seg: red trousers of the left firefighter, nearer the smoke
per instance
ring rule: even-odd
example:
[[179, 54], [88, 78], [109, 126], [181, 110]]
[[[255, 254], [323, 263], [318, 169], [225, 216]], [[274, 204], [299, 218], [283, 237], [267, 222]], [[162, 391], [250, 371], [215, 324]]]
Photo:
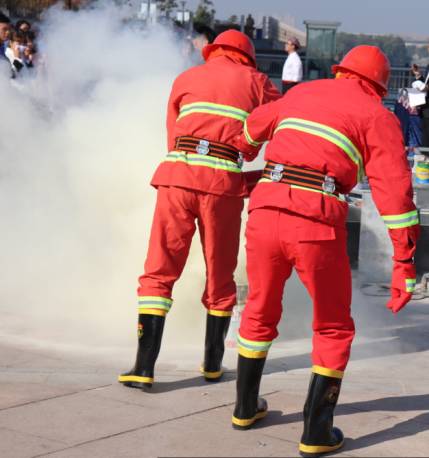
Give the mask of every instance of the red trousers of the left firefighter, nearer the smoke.
[[140, 313], [165, 315], [170, 309], [172, 289], [185, 267], [197, 222], [206, 263], [202, 302], [213, 315], [231, 315], [242, 210], [241, 197], [158, 188], [145, 273], [139, 278]]

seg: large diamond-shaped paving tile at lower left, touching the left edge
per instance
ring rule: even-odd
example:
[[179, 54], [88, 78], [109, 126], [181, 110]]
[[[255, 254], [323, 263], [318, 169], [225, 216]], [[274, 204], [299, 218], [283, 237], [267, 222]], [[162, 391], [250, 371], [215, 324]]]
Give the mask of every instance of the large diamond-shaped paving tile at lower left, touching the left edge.
[[92, 391], [28, 404], [0, 412], [0, 428], [14, 425], [33, 434], [69, 445], [93, 440], [161, 421], [160, 410], [95, 396]]

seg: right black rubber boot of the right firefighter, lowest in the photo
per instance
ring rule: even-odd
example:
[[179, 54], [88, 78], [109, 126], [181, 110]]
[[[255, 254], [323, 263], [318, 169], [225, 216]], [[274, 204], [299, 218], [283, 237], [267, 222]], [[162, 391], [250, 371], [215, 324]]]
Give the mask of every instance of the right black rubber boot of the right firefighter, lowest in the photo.
[[343, 446], [343, 433], [333, 426], [340, 388], [341, 379], [313, 373], [304, 406], [304, 433], [299, 444], [301, 456], [320, 456]]

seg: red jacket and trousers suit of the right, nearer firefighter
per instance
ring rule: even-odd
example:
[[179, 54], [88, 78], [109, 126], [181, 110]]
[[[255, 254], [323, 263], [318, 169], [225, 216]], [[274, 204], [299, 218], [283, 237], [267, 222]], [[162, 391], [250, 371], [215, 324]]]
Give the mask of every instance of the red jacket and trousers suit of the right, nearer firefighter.
[[[414, 256], [418, 215], [399, 123], [370, 83], [336, 79], [297, 86], [256, 109], [235, 144], [252, 159], [266, 140], [271, 140], [267, 161], [334, 177], [344, 194], [366, 173], [389, 229], [394, 260], [408, 262]], [[314, 371], [342, 376], [354, 336], [347, 203], [329, 190], [263, 178], [249, 211], [250, 291], [239, 331], [240, 353], [266, 356], [277, 336], [284, 284], [295, 267], [314, 303]], [[410, 269], [401, 272], [410, 275]], [[413, 281], [396, 280], [395, 287], [409, 294]]]

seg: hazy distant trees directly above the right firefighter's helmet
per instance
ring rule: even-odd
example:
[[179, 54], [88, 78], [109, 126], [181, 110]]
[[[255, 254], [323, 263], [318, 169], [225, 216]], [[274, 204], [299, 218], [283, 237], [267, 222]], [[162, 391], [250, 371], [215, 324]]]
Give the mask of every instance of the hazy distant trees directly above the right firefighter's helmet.
[[381, 48], [393, 66], [403, 67], [410, 63], [405, 42], [396, 35], [355, 35], [341, 32], [337, 35], [338, 58], [341, 59], [350, 49], [363, 44]]

